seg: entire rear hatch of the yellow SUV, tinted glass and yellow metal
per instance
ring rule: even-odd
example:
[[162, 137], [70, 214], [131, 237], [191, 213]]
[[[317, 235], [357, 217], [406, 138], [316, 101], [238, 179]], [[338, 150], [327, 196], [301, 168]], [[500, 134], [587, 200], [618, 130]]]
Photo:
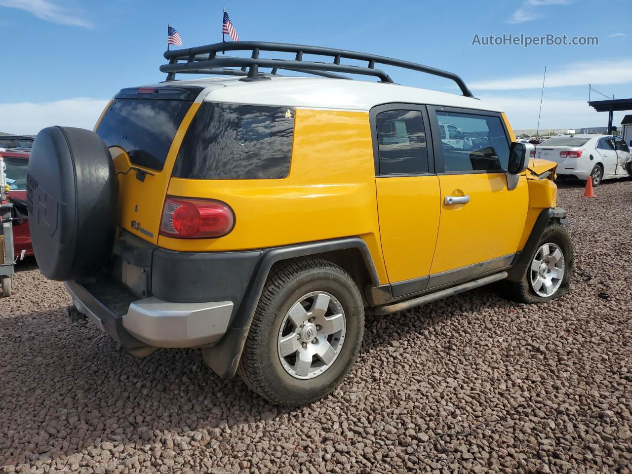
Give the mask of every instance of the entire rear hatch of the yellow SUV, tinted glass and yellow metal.
[[114, 159], [119, 226], [154, 245], [173, 164], [202, 90], [173, 86], [122, 89], [95, 130]]

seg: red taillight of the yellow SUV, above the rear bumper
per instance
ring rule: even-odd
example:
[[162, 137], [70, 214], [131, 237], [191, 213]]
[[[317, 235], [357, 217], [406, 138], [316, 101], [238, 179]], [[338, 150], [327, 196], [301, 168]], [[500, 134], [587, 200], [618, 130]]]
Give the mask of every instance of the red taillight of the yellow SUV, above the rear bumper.
[[223, 202], [167, 196], [160, 234], [183, 239], [221, 237], [233, 230], [234, 222], [233, 210]]

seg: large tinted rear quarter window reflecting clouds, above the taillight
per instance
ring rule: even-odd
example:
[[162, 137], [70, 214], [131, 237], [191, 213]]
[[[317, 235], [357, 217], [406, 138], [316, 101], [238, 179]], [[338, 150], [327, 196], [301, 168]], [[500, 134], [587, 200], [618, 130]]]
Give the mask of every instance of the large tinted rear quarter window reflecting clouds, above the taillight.
[[285, 178], [293, 135], [292, 108], [205, 102], [186, 131], [173, 176]]

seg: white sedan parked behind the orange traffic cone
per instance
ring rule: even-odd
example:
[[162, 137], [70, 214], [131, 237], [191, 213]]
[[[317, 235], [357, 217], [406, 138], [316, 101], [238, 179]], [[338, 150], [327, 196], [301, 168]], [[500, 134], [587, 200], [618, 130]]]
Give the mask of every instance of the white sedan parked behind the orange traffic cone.
[[612, 135], [553, 137], [535, 147], [535, 157], [557, 162], [557, 176], [586, 181], [632, 176], [632, 154], [623, 138]]

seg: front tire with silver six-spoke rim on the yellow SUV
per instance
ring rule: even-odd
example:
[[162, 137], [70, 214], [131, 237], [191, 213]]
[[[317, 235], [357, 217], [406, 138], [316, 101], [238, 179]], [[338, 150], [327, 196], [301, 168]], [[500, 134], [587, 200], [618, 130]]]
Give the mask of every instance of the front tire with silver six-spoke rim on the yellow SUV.
[[[552, 293], [550, 294], [547, 294], [548, 292], [546, 291], [546, 287], [544, 285], [540, 288], [534, 288], [533, 272], [535, 270], [532, 269], [534, 260], [538, 260], [539, 258], [540, 261], [545, 261], [543, 258], [541, 258], [542, 253], [540, 253], [540, 249], [542, 249], [542, 247], [547, 244], [550, 244], [550, 250], [555, 246], [561, 251], [564, 265], [564, 272], [561, 275], [561, 278], [552, 278], [552, 290], [554, 291], [552, 291]], [[529, 305], [535, 303], [544, 303], [545, 301], [561, 298], [568, 292], [571, 277], [573, 276], [573, 258], [573, 244], [571, 243], [571, 239], [566, 232], [566, 229], [564, 229], [559, 224], [550, 224], [545, 229], [544, 234], [542, 234], [542, 238], [540, 239], [540, 242], [538, 243], [538, 246], [533, 253], [532, 258], [530, 259], [530, 265], [527, 268], [522, 279], [518, 282], [513, 282], [509, 280], [505, 280], [503, 282], [505, 295], [507, 296], [507, 298], [516, 301], [517, 303], [526, 303]], [[554, 270], [557, 270], [557, 267], [559, 267], [559, 263], [556, 263], [556, 269]], [[550, 268], [548, 270], [550, 270]], [[552, 275], [552, 273], [549, 272], [547, 274], [547, 277], [550, 275]], [[535, 279], [537, 279], [537, 277]], [[559, 284], [557, 284], [557, 281], [559, 281]]]

